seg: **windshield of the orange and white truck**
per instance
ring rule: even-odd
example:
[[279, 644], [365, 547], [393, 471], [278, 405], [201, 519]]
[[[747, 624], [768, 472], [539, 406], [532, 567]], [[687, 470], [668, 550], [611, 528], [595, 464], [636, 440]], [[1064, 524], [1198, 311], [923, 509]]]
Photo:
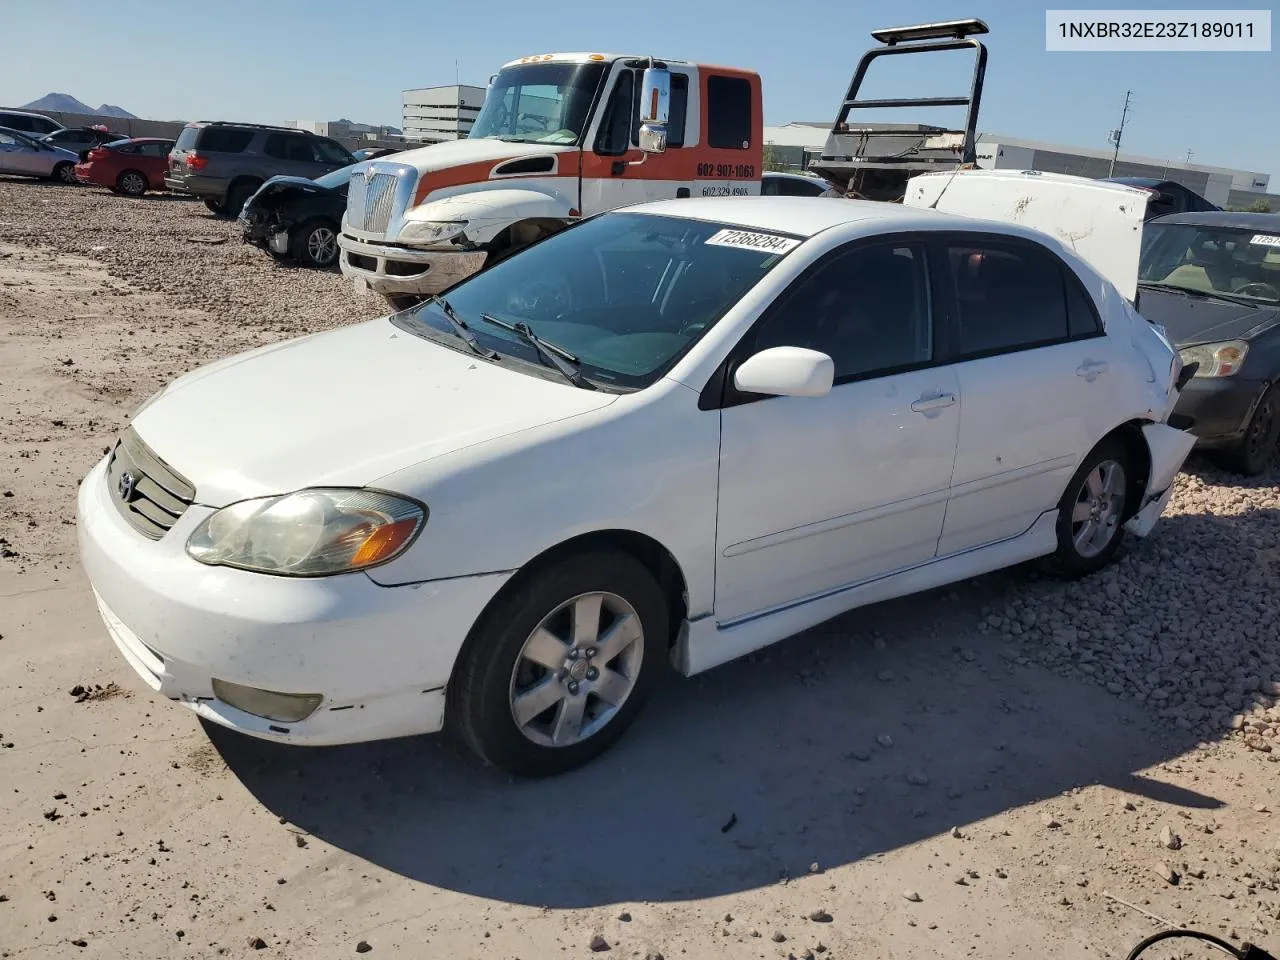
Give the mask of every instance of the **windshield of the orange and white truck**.
[[508, 67], [490, 84], [468, 136], [524, 143], [577, 143], [605, 69], [603, 63]]

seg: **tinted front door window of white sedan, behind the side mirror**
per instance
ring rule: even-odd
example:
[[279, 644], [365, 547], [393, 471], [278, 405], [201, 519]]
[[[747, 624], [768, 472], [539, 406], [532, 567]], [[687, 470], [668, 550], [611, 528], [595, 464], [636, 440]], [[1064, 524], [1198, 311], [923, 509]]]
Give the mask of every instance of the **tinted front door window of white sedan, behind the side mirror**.
[[785, 297], [756, 332], [755, 349], [820, 351], [835, 361], [837, 381], [933, 360], [923, 246], [886, 243], [838, 255]]

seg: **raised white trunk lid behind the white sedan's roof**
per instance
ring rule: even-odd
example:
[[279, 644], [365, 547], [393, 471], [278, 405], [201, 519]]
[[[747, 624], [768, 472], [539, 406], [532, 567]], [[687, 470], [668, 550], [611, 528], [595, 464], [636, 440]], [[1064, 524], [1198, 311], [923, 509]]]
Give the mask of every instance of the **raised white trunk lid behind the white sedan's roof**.
[[957, 170], [911, 178], [902, 205], [1047, 233], [1132, 302], [1138, 292], [1138, 256], [1149, 198], [1151, 193], [1137, 187], [1062, 173]]

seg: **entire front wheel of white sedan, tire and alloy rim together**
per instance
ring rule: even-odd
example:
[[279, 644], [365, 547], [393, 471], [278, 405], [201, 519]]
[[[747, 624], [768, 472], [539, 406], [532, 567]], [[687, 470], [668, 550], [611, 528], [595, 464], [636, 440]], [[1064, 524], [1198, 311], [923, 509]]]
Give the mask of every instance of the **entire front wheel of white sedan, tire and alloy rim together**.
[[611, 550], [553, 561], [476, 622], [449, 684], [448, 722], [508, 773], [580, 767], [635, 719], [668, 632], [666, 596], [639, 561]]

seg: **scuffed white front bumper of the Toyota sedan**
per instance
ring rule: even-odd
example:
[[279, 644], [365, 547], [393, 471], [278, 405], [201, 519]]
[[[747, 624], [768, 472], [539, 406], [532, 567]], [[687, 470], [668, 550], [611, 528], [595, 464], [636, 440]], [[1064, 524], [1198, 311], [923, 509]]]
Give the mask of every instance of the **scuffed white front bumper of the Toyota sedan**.
[[[224, 727], [291, 744], [348, 744], [430, 733], [472, 623], [507, 580], [497, 573], [387, 588], [364, 573], [273, 577], [206, 567], [186, 554], [212, 509], [193, 506], [160, 540], [120, 516], [106, 461], [81, 484], [81, 559], [125, 660], [163, 696]], [[321, 694], [306, 719], [244, 713], [212, 680]]]

